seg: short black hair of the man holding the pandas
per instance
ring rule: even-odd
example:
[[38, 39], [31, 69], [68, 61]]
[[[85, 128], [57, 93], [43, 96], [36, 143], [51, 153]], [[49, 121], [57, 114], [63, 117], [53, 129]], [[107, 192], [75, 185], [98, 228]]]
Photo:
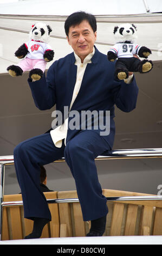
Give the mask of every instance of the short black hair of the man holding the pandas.
[[68, 36], [69, 34], [69, 27], [79, 25], [83, 20], [88, 21], [89, 25], [93, 29], [93, 32], [96, 32], [97, 25], [95, 16], [89, 13], [85, 13], [85, 11], [77, 11], [76, 13], [68, 16], [64, 23], [64, 30], [66, 35]]

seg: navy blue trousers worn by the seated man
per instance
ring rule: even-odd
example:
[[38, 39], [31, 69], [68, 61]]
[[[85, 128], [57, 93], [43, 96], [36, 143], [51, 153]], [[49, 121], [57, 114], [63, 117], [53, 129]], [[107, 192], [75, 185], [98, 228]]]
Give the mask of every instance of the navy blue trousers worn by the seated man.
[[21, 188], [24, 217], [51, 220], [46, 197], [40, 189], [40, 166], [64, 157], [75, 179], [83, 220], [95, 220], [107, 215], [107, 199], [102, 195], [95, 166], [95, 157], [109, 145], [95, 131], [80, 131], [64, 146], [56, 148], [50, 133], [21, 142], [14, 149], [14, 161]]

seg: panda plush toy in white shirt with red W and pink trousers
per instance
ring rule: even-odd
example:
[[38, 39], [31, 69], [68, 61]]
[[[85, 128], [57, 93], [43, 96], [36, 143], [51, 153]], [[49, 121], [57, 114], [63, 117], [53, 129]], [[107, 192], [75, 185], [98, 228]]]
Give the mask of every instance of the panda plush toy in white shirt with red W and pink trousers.
[[48, 45], [51, 31], [50, 26], [42, 22], [32, 26], [29, 32], [30, 40], [21, 45], [15, 52], [17, 58], [23, 59], [17, 65], [11, 65], [7, 68], [11, 76], [21, 76], [24, 71], [30, 70], [29, 77], [31, 80], [40, 80], [47, 62], [54, 58], [54, 51]]

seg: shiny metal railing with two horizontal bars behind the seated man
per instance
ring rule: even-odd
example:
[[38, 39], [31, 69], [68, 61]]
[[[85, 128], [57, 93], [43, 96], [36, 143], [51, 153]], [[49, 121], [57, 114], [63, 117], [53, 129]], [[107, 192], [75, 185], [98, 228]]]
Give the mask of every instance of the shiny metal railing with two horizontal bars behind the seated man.
[[[162, 148], [155, 149], [118, 149], [109, 152], [108, 154], [96, 157], [95, 160], [118, 160], [118, 159], [151, 159], [162, 158]], [[62, 159], [55, 162], [64, 162]], [[55, 163], [54, 162], [54, 163]], [[14, 165], [14, 156], [0, 156], [0, 240], [2, 234], [2, 211], [4, 206], [23, 205], [22, 201], [3, 202], [4, 197], [4, 175], [5, 166]], [[129, 201], [129, 200], [162, 200], [162, 196], [133, 196], [133, 197], [107, 197], [107, 201]], [[78, 198], [63, 198], [63, 199], [47, 199], [48, 203], [74, 203], [79, 202]]]

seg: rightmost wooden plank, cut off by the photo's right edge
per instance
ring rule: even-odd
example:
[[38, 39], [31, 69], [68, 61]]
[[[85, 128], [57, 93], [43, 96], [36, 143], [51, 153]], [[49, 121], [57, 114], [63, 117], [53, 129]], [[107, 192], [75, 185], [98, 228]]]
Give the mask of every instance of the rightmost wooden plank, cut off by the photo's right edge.
[[155, 209], [153, 235], [162, 235], [162, 209]]

